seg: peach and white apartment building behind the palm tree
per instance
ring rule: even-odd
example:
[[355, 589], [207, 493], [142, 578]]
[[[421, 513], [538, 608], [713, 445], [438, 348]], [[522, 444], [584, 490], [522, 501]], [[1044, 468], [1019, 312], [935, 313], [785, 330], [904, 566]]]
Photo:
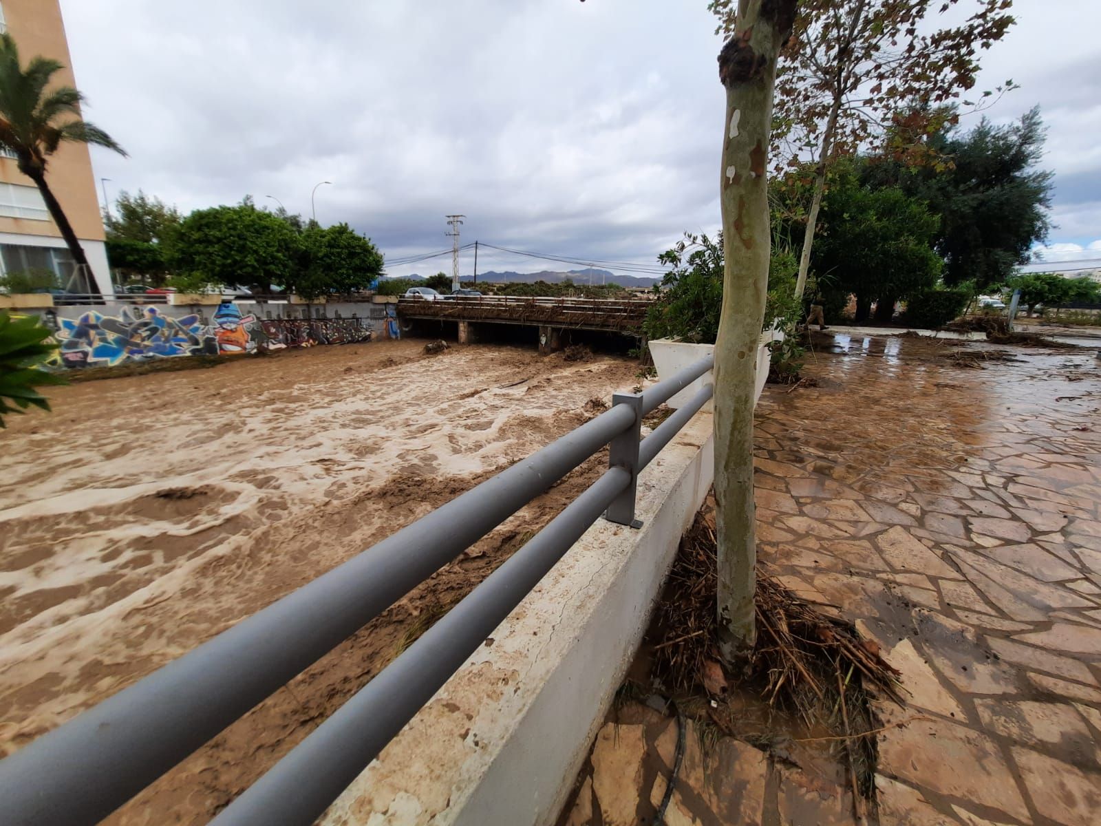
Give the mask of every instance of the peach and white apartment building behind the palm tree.
[[[54, 75], [55, 83], [80, 88], [73, 75], [59, 0], [0, 0], [0, 28], [15, 39], [24, 64], [35, 55], [53, 57], [64, 65]], [[88, 148], [63, 143], [50, 157], [46, 180], [80, 239], [100, 292], [112, 292]], [[65, 285], [75, 262], [37, 187], [0, 150], [0, 271], [32, 268], [52, 270]]]

